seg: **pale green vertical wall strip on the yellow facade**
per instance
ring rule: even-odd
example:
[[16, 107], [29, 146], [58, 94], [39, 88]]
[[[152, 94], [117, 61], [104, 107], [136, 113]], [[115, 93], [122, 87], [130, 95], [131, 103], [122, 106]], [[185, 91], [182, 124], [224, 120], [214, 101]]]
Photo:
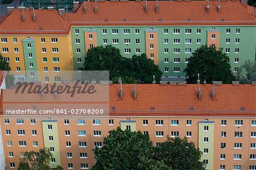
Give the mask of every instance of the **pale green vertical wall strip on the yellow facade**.
[[[31, 48], [28, 48], [28, 43], [31, 44]], [[36, 63], [35, 39], [22, 39], [22, 44], [27, 81], [38, 81], [38, 64]], [[28, 57], [28, 53], [32, 53], [32, 57]], [[30, 63], [33, 63], [33, 68], [30, 68]], [[34, 77], [31, 77], [31, 72], [34, 73]]]

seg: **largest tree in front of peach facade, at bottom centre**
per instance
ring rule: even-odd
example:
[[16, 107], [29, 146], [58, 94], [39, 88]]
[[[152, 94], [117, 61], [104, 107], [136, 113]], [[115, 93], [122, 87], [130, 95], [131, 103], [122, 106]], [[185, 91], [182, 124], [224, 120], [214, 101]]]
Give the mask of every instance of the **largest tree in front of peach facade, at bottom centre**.
[[162, 161], [153, 159], [154, 146], [141, 131], [110, 131], [104, 146], [94, 151], [97, 163], [92, 169], [170, 169]]

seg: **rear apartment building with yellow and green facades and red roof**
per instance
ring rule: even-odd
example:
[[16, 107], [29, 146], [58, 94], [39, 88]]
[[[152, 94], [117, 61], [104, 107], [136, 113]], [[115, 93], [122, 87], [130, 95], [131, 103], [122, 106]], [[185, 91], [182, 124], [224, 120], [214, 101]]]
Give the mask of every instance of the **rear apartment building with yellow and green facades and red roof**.
[[164, 77], [184, 77], [188, 58], [204, 44], [223, 48], [233, 72], [255, 60], [255, 8], [243, 1], [83, 2], [73, 13], [9, 9], [0, 23], [1, 53], [17, 74], [31, 67], [80, 72], [98, 45], [125, 57], [146, 53]]

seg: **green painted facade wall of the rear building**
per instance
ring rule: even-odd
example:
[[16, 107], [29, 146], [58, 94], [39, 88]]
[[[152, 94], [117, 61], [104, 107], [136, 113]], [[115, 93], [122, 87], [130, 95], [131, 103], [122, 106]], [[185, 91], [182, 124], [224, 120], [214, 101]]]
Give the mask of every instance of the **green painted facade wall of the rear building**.
[[[239, 67], [245, 60], [255, 60], [255, 47], [256, 47], [256, 27], [255, 26], [187, 26], [187, 27], [72, 27], [72, 45], [73, 45], [73, 59], [74, 59], [74, 69], [81, 67], [81, 64], [77, 64], [76, 58], [85, 56], [85, 43], [84, 43], [84, 30], [92, 28], [97, 31], [97, 44], [103, 44], [103, 39], [108, 39], [108, 45], [113, 45], [121, 51], [121, 55], [125, 57], [131, 57], [135, 55], [135, 48], [141, 49], [141, 54], [146, 51], [145, 43], [145, 30], [154, 28], [158, 30], [158, 49], [159, 49], [159, 68], [164, 72], [164, 68], [168, 67], [169, 72], [163, 73], [163, 76], [185, 76], [183, 73], [184, 68], [187, 66], [185, 63], [185, 58], [192, 56], [192, 54], [185, 53], [185, 48], [191, 48], [192, 52], [199, 48], [201, 45], [207, 44], [207, 30], [215, 28], [220, 30], [220, 47], [230, 48], [230, 65], [232, 67], [232, 72], [234, 72], [235, 67]], [[118, 29], [118, 34], [112, 34], [112, 29]], [[130, 29], [130, 34], [123, 34], [123, 29]], [[135, 29], [139, 28], [139, 34], [135, 34]], [[173, 30], [177, 28], [180, 29], [180, 34], [173, 34]], [[191, 34], [184, 34], [186, 28], [191, 28]], [[196, 29], [201, 29], [201, 34], [196, 34]], [[230, 28], [230, 34], [226, 34], [226, 28]], [[236, 28], [240, 28], [240, 34], [236, 34]], [[80, 30], [79, 35], [75, 35], [75, 29]], [[102, 30], [106, 29], [107, 34], [103, 34]], [[164, 29], [168, 29], [168, 34], [164, 34]], [[75, 39], [80, 39], [80, 44], [75, 44]], [[131, 43], [125, 44], [123, 39], [130, 38]], [[140, 39], [140, 44], [135, 44], [135, 39]], [[226, 38], [230, 38], [230, 44], [226, 44]], [[235, 39], [240, 38], [240, 44], [235, 44]], [[119, 44], [112, 44], [112, 39], [119, 39]], [[164, 44], [164, 39], [168, 39], [168, 44]], [[174, 39], [180, 39], [180, 44], [174, 44]], [[185, 44], [185, 39], [191, 39], [191, 44]], [[201, 39], [201, 44], [196, 43], [196, 39]], [[76, 48], [81, 48], [81, 53], [76, 54]], [[130, 54], [125, 54], [124, 49], [131, 48]], [[164, 48], [169, 48], [169, 53], [164, 53]], [[180, 48], [180, 53], [174, 53], [174, 48]], [[235, 48], [240, 48], [240, 53], [234, 53]], [[136, 54], [138, 55], [138, 54]], [[168, 57], [169, 63], [164, 63], [164, 58]], [[234, 59], [239, 57], [239, 63], [234, 63]], [[174, 63], [174, 58], [180, 58], [180, 63]], [[179, 67], [180, 72], [174, 73], [174, 67]]]

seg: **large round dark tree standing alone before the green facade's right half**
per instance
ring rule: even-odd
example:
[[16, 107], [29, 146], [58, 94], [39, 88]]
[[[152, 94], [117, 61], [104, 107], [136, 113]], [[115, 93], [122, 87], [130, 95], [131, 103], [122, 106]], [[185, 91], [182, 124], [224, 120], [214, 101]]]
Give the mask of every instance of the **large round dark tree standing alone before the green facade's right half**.
[[222, 52], [222, 49], [217, 50], [215, 47], [202, 45], [192, 53], [184, 72], [189, 77], [189, 83], [196, 83], [197, 73], [199, 73], [201, 80], [222, 81], [224, 84], [230, 84], [234, 76], [228, 61], [229, 57]]

